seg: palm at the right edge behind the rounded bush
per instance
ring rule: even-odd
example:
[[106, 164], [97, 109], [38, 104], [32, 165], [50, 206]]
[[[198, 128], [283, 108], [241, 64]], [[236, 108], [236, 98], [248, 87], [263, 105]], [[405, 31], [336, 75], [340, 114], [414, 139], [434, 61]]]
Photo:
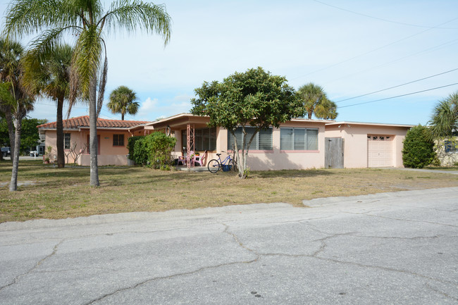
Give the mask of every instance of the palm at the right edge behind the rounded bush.
[[458, 91], [435, 105], [428, 125], [433, 138], [451, 138], [458, 131]]

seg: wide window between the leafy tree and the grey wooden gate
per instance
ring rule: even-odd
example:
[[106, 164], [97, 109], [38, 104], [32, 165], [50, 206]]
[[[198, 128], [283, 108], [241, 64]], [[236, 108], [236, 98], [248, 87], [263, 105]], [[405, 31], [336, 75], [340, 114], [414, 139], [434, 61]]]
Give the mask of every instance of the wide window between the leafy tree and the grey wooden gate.
[[280, 128], [281, 150], [318, 150], [318, 130]]

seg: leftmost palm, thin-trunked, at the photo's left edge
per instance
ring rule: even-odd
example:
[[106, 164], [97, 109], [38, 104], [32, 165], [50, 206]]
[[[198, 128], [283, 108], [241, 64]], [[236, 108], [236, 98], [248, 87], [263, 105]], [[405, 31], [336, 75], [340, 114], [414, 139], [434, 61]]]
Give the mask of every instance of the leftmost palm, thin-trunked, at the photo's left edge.
[[[11, 170], [10, 192], [18, 190], [18, 168], [20, 152], [20, 132], [22, 130], [23, 118], [28, 111], [33, 109], [35, 94], [29, 94], [22, 84], [24, 49], [18, 42], [2, 41], [0, 43], [2, 54], [9, 54], [1, 61], [1, 83], [0, 100], [1, 104], [8, 108], [8, 113], [13, 118], [14, 125], [14, 146], [11, 147], [11, 158], [13, 168]], [[4, 108], [4, 107], [2, 107]], [[8, 127], [9, 129], [9, 127]], [[11, 142], [10, 132], [10, 142]]]

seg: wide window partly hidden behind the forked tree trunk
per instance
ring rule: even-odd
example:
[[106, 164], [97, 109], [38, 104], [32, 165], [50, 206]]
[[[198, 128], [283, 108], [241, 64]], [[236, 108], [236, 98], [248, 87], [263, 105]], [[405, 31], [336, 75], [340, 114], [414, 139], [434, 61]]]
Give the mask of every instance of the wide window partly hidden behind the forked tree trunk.
[[[254, 134], [255, 127], [245, 127], [247, 131], [247, 144], [249, 139], [252, 138]], [[242, 149], [243, 143], [243, 132], [242, 127], [237, 127], [235, 130], [235, 137], [237, 137], [237, 145], [239, 149]], [[228, 131], [228, 149], [233, 149], [233, 145], [235, 145], [233, 135]], [[252, 144], [249, 146], [249, 149], [252, 150], [272, 150], [272, 127], [268, 128], [268, 130], [259, 130], [256, 133], [256, 136], [253, 139]]]

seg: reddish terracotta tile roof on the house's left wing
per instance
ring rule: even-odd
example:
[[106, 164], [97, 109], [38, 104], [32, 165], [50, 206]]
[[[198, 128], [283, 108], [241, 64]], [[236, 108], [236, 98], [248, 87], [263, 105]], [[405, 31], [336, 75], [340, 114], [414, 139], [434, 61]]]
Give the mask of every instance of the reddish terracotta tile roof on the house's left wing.
[[[97, 118], [97, 127], [101, 128], [130, 128], [149, 123], [143, 120], [107, 120], [105, 118]], [[69, 118], [63, 120], [64, 129], [78, 129], [81, 127], [89, 127], [89, 116], [78, 116], [77, 118]], [[56, 129], [56, 122], [44, 123], [38, 125], [37, 128]]]

